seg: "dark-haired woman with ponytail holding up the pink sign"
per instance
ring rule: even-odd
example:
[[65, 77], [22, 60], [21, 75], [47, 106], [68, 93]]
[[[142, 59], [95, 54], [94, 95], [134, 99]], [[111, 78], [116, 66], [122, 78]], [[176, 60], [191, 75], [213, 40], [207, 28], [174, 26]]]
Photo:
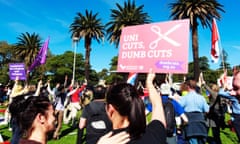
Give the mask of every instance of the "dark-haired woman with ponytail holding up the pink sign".
[[151, 122], [146, 125], [145, 107], [134, 86], [120, 83], [109, 88], [106, 111], [113, 124], [113, 133], [126, 131], [130, 143], [166, 143], [166, 121], [161, 97], [153, 85], [155, 73], [148, 73], [146, 86], [153, 105]]

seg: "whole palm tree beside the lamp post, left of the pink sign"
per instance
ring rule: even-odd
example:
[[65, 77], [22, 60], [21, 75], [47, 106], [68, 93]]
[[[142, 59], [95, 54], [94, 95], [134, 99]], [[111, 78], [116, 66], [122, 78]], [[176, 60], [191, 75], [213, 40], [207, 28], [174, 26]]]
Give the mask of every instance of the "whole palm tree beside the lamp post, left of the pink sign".
[[90, 69], [90, 52], [92, 40], [98, 43], [104, 38], [104, 25], [101, 19], [97, 18], [98, 13], [93, 14], [92, 11], [86, 10], [85, 15], [77, 13], [73, 23], [70, 25], [72, 38], [78, 37], [84, 39], [85, 46], [85, 77], [89, 80]]

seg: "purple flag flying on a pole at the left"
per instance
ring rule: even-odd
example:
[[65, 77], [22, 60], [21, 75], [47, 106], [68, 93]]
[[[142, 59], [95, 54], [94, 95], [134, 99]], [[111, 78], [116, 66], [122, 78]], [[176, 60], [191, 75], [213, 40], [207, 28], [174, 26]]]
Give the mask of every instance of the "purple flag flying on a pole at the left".
[[40, 51], [38, 52], [38, 55], [36, 56], [36, 58], [34, 60], [34, 62], [28, 68], [28, 72], [31, 72], [35, 67], [46, 63], [49, 39], [50, 38], [48, 37], [48, 39], [45, 41], [45, 43], [41, 47]]

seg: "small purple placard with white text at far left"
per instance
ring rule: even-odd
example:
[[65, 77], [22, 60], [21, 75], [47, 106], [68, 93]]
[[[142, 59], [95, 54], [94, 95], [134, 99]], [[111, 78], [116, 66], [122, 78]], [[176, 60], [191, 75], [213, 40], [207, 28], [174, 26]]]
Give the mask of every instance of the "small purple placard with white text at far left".
[[18, 77], [19, 80], [26, 80], [26, 71], [24, 63], [10, 63], [9, 64], [9, 76], [11, 80], [15, 80]]

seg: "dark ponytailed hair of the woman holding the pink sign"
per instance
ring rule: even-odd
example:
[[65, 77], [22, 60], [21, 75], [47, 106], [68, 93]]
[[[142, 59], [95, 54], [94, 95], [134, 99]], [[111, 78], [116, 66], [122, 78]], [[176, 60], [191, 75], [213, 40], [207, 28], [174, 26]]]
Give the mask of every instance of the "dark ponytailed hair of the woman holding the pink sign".
[[109, 88], [106, 100], [120, 115], [128, 117], [131, 137], [140, 137], [146, 128], [146, 117], [144, 103], [137, 89], [127, 83], [114, 85]]

